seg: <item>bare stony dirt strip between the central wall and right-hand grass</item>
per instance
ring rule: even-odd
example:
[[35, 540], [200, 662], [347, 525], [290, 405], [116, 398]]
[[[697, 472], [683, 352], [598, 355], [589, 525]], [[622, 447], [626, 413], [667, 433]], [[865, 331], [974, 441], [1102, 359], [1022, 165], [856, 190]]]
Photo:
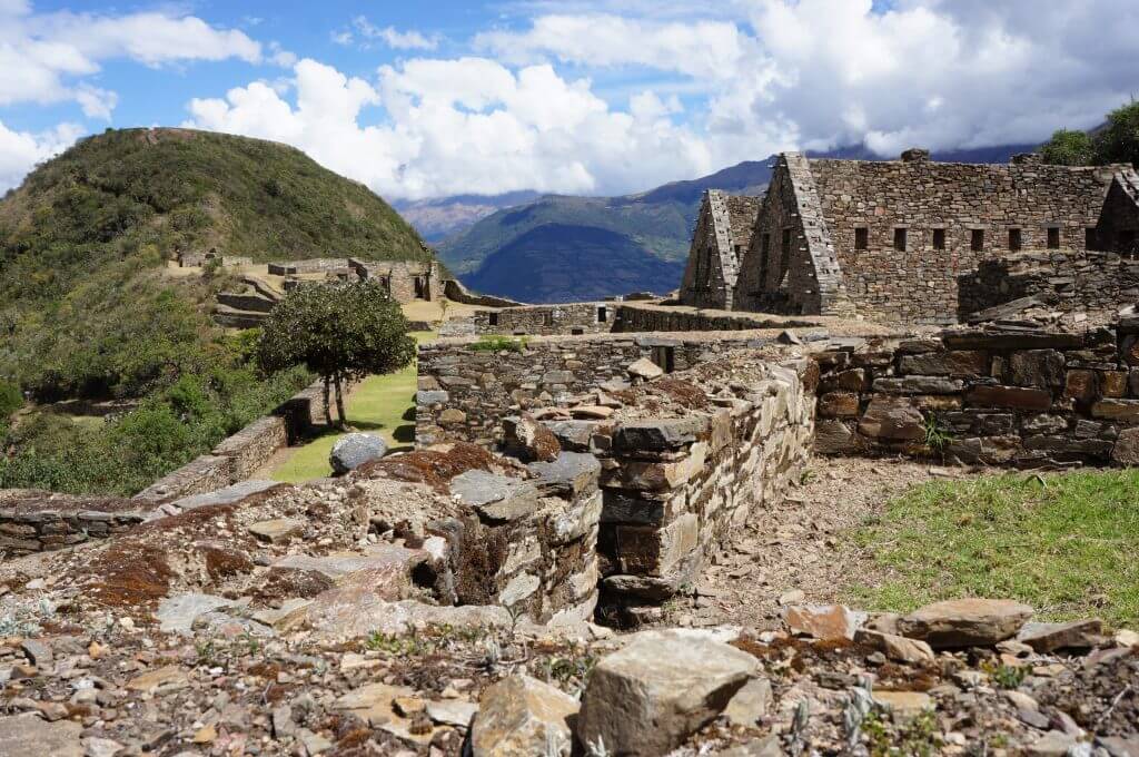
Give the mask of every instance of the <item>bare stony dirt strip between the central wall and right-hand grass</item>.
[[804, 483], [780, 504], [756, 513], [747, 530], [718, 555], [691, 599], [674, 600], [665, 622], [685, 626], [780, 627], [780, 597], [794, 604], [838, 602], [853, 580], [874, 580], [871, 565], [846, 532], [911, 486], [965, 479], [980, 471], [890, 458], [811, 461]]

